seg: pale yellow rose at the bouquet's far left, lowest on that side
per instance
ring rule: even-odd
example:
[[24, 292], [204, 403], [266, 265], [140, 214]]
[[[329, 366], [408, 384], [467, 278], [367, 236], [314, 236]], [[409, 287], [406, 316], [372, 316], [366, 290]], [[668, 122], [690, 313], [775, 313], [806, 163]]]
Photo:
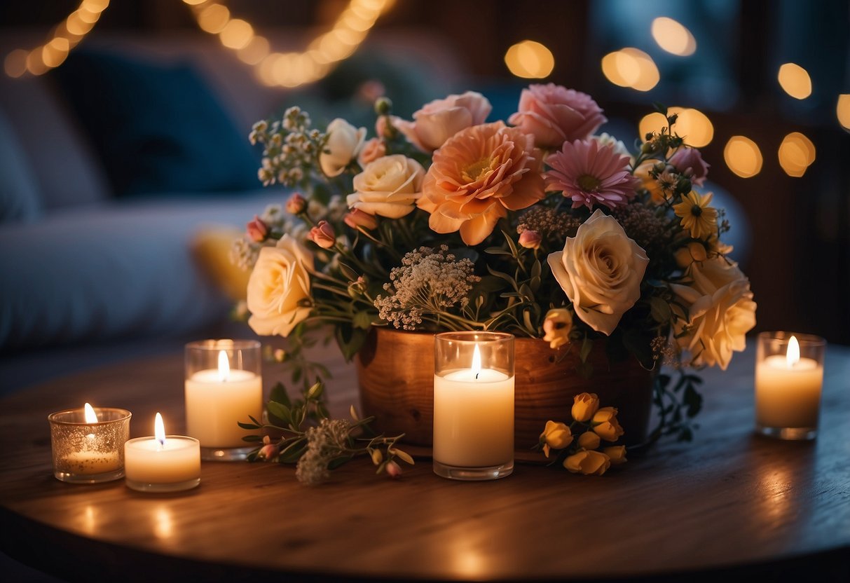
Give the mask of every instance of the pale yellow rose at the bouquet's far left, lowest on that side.
[[283, 235], [277, 246], [263, 247], [248, 279], [248, 325], [260, 336], [286, 337], [310, 308], [301, 305], [310, 298], [309, 272], [313, 255], [291, 235]]

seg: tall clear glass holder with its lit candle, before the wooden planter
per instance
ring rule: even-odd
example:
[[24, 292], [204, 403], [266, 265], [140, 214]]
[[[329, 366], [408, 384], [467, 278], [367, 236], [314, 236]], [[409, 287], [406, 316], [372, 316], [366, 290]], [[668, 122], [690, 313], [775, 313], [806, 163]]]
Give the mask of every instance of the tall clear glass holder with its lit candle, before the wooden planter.
[[513, 473], [513, 335], [434, 337], [433, 471], [486, 480]]

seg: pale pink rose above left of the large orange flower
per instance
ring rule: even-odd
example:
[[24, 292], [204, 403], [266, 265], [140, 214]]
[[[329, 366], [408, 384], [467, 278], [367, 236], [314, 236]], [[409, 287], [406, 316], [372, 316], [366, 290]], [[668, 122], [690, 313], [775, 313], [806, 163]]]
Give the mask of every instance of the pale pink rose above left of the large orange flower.
[[423, 105], [413, 114], [413, 122], [395, 116], [392, 122], [411, 144], [423, 152], [432, 152], [462, 129], [484, 123], [492, 109], [484, 95], [467, 91]]

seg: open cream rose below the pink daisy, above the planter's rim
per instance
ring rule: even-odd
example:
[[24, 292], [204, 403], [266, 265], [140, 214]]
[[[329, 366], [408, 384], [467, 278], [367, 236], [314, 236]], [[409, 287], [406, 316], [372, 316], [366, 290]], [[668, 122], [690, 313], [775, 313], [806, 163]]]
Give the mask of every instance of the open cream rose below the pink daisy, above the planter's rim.
[[550, 254], [548, 261], [575, 315], [593, 330], [610, 335], [638, 301], [649, 258], [615, 218], [597, 210], [575, 238], [567, 237], [564, 251]]

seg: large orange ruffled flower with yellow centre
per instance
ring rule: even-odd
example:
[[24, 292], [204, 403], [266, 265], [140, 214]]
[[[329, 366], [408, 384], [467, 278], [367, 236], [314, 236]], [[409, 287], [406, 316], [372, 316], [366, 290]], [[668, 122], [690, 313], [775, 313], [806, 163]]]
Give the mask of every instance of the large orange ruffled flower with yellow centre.
[[460, 231], [467, 245], [487, 238], [507, 211], [540, 201], [545, 192], [534, 137], [502, 122], [467, 127], [433, 154], [418, 207], [437, 233]]

